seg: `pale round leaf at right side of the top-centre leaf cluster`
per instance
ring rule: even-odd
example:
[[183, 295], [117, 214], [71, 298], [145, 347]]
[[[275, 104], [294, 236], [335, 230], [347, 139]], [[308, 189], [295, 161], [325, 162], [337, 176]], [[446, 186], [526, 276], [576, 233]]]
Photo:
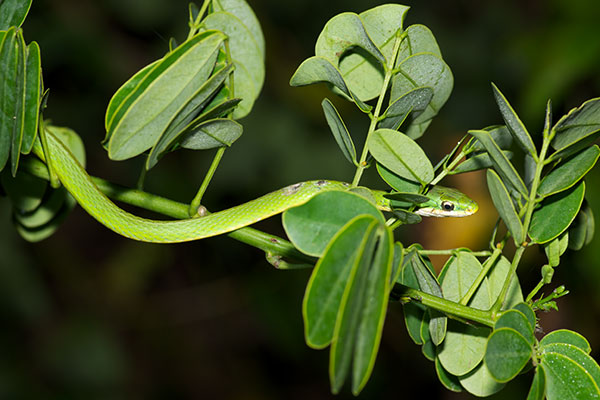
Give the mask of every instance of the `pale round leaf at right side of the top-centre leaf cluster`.
[[431, 120], [452, 92], [454, 78], [448, 65], [436, 54], [418, 53], [402, 61], [396, 68], [398, 73], [392, 78], [390, 104], [415, 88], [430, 87], [433, 89], [431, 102], [412, 122], [421, 124]]

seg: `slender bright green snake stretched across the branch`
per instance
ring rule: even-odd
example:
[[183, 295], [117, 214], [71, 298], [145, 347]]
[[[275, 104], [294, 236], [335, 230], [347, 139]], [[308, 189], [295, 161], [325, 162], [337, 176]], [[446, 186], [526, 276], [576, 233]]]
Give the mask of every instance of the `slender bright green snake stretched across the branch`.
[[[40, 140], [35, 154], [48, 164], [85, 211], [100, 223], [130, 239], [154, 243], [175, 243], [204, 239], [228, 233], [304, 204], [318, 193], [328, 190], [348, 190], [343, 182], [307, 181], [276, 190], [247, 203], [184, 220], [157, 221], [133, 215], [113, 203], [94, 184], [86, 170], [64, 144], [46, 131], [45, 156]], [[390, 211], [390, 202], [383, 191], [371, 190], [379, 209]], [[433, 186], [427, 193], [429, 201], [420, 205], [417, 214], [424, 216], [463, 217], [477, 211], [477, 203], [460, 191]]]

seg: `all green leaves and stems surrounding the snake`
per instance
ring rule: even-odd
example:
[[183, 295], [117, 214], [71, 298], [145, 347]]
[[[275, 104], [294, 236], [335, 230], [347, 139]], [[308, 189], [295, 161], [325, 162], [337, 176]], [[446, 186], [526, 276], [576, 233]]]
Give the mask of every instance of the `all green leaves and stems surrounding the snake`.
[[[58, 228], [75, 201], [60, 187], [52, 158], [45, 152], [36, 158], [32, 148], [47, 148], [46, 135], [52, 134], [82, 165], [85, 152], [74, 131], [43, 118], [47, 92], [39, 47], [27, 45], [19, 28], [30, 5], [0, 4], [0, 182], [17, 231], [38, 241]], [[334, 101], [321, 103], [335, 142], [355, 168], [350, 190], [325, 192], [285, 211], [290, 242], [252, 229], [233, 237], [267, 252], [278, 268], [314, 264], [302, 307], [305, 338], [310, 347], [330, 348], [334, 393], [348, 380], [355, 395], [365, 387], [388, 303], [399, 301], [409, 336], [449, 390], [489, 396], [532, 370], [528, 398], [600, 397], [600, 367], [589, 355], [587, 340], [570, 330], [540, 337], [536, 317], [541, 310], [557, 309], [555, 300], [568, 293], [560, 286], [538, 296], [552, 282], [561, 256], [567, 248], [581, 249], [594, 235], [583, 179], [600, 156], [594, 144], [600, 135], [600, 99], [586, 101], [557, 122], [548, 102], [544, 128], [532, 135], [492, 85], [505, 125], [469, 131], [434, 165], [417, 140], [448, 100], [453, 76], [429, 28], [404, 28], [407, 12], [408, 7], [386, 4], [331, 18], [317, 38], [315, 55], [290, 79], [292, 86], [325, 83], [336, 102], [347, 101], [368, 118], [358, 156]], [[115, 92], [106, 110], [103, 144], [113, 160], [145, 157], [140, 189], [145, 172], [168, 152], [217, 149], [189, 205], [189, 216], [196, 216], [223, 152], [242, 134], [237, 120], [251, 112], [258, 97], [265, 44], [244, 0], [192, 4], [189, 26], [183, 42], [172, 40], [164, 57]], [[384, 195], [359, 186], [370, 166], [389, 186]], [[482, 169], [499, 215], [489, 248], [447, 249], [443, 253], [449, 259], [437, 274], [431, 252], [395, 241], [394, 231], [420, 222], [420, 209], [449, 201], [431, 204], [451, 193], [442, 189], [434, 196], [443, 178]], [[109, 196], [173, 215], [149, 193], [136, 191], [138, 200], [126, 200], [109, 183], [98, 186]], [[460, 211], [466, 200], [452, 201], [452, 210]], [[548, 263], [540, 267], [539, 284], [524, 296], [517, 269], [524, 252], [538, 246]]]

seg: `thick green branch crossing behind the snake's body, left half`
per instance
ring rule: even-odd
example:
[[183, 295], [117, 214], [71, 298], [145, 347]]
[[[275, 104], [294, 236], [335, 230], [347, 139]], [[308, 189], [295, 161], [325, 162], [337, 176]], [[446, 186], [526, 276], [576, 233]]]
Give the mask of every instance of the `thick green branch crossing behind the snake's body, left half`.
[[[43, 162], [35, 158], [24, 158], [20, 167], [23, 171], [33, 176], [49, 180], [48, 168]], [[120, 201], [176, 219], [189, 218], [188, 204], [180, 203], [141, 190], [117, 185], [102, 178], [92, 177], [92, 181], [94, 181], [102, 193], [115, 201]], [[316, 259], [313, 257], [302, 254], [296, 250], [296, 248], [287, 240], [257, 229], [246, 227], [230, 232], [228, 236], [252, 247], [256, 247], [266, 253], [278, 255], [297, 263], [314, 264], [316, 262]]]

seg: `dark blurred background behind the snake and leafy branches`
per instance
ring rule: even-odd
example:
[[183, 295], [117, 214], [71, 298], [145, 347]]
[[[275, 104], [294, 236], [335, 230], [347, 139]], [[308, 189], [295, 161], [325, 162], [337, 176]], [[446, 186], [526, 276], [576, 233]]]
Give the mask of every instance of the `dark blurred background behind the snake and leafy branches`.
[[[600, 3], [589, 0], [407, 1], [406, 26], [431, 28], [455, 76], [455, 89], [420, 141], [436, 162], [468, 129], [499, 123], [490, 81], [539, 133], [547, 98], [557, 117], [600, 93]], [[206, 195], [226, 208], [306, 179], [349, 180], [353, 170], [328, 133], [322, 86], [291, 88], [289, 78], [325, 22], [376, 1], [251, 2], [265, 33], [267, 75], [242, 138], [226, 152]], [[133, 185], [140, 161], [110, 162], [99, 143], [114, 91], [187, 33], [183, 0], [34, 0], [24, 24], [42, 49], [46, 117], [84, 139], [90, 173]], [[340, 112], [358, 142], [367, 121]], [[189, 201], [212, 154], [179, 152], [148, 175], [147, 190]], [[175, 177], [175, 178], [174, 178]], [[370, 171], [366, 183], [373, 178]], [[599, 173], [587, 198], [600, 215]], [[449, 179], [481, 211], [402, 230], [426, 248], [484, 248], [495, 210], [481, 173]], [[281, 233], [279, 219], [260, 225]], [[325, 399], [328, 352], [303, 338], [301, 301], [308, 271], [276, 271], [254, 248], [227, 237], [178, 245], [123, 239], [76, 209], [51, 238], [29, 244], [0, 199], [0, 398], [4, 399]], [[555, 274], [571, 294], [560, 313], [543, 314], [545, 331], [571, 328], [600, 347], [596, 239], [569, 252]], [[545, 259], [526, 253], [524, 292]], [[443, 259], [436, 259], [439, 268]], [[525, 398], [531, 374], [494, 396]], [[392, 304], [371, 381], [360, 398], [462, 399], [437, 382], [432, 363], [407, 337]], [[350, 398], [347, 389], [338, 399]]]

